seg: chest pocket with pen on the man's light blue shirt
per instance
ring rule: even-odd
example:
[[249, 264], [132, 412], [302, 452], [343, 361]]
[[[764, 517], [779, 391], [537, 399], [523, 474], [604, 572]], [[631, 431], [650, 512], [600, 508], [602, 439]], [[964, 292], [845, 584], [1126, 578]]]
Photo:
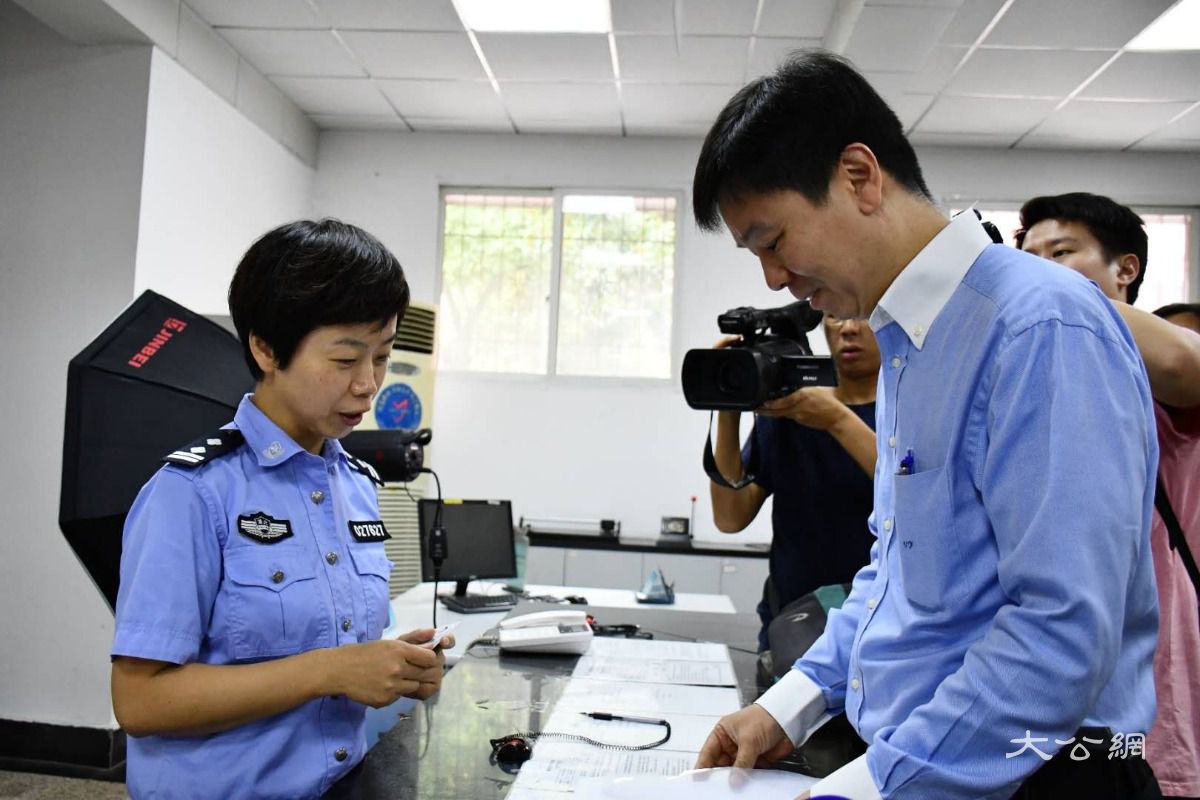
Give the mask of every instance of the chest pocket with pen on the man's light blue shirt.
[[946, 468], [895, 476], [895, 548], [908, 601], [940, 612], [961, 600], [961, 569]]

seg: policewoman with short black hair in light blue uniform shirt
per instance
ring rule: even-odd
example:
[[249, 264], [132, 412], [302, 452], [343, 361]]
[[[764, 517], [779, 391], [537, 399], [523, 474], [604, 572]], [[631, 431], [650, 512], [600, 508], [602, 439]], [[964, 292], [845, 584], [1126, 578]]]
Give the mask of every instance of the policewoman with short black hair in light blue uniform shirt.
[[[430, 630], [379, 640], [373, 474], [337, 443], [371, 409], [408, 284], [332, 219], [247, 251], [229, 311], [254, 391], [168, 457], [125, 527], [113, 708], [136, 798], [318, 798], [361, 762], [365, 705], [442, 681]], [[452, 639], [445, 642], [452, 645]]]

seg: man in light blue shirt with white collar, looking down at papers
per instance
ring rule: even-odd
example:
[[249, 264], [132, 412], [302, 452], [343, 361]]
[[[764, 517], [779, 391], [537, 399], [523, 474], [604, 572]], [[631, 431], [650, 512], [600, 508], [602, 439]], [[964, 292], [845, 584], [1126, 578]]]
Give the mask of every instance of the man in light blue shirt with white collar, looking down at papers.
[[770, 763], [845, 708], [866, 754], [814, 795], [1160, 796], [1126, 758], [1158, 625], [1136, 348], [1096, 287], [929, 197], [895, 115], [828, 54], [740, 90], [704, 142], [700, 224], [773, 289], [869, 318], [882, 368], [871, 563], [698, 765]]

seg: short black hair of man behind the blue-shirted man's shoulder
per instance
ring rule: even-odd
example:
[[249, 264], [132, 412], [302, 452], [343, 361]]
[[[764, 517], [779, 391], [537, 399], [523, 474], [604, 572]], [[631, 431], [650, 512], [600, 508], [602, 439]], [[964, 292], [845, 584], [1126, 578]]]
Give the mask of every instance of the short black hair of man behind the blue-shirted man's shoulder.
[[1126, 287], [1126, 300], [1130, 306], [1138, 300], [1138, 290], [1146, 278], [1148, 239], [1142, 227], [1145, 223], [1133, 209], [1110, 197], [1088, 192], [1036, 197], [1021, 206], [1021, 227], [1014, 234], [1018, 249], [1025, 243], [1026, 231], [1046, 219], [1084, 225], [1100, 243], [1104, 258], [1110, 261], [1126, 253], [1136, 255], [1141, 269], [1138, 270], [1138, 277]]

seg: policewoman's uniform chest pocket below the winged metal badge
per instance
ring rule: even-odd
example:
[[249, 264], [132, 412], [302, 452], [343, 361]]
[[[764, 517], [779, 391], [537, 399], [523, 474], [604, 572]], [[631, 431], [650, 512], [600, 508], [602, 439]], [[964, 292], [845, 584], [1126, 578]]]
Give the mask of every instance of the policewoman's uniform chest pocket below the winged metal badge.
[[300, 548], [238, 547], [224, 555], [233, 657], [289, 656], [324, 646], [329, 613], [317, 563]]

